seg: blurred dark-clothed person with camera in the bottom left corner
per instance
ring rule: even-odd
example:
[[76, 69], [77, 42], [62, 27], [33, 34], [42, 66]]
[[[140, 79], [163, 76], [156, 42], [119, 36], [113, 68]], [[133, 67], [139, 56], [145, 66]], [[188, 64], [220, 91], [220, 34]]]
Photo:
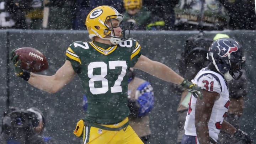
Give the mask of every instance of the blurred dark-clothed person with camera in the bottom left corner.
[[36, 107], [27, 110], [10, 108], [2, 119], [3, 144], [57, 144], [52, 137], [42, 135], [45, 118]]

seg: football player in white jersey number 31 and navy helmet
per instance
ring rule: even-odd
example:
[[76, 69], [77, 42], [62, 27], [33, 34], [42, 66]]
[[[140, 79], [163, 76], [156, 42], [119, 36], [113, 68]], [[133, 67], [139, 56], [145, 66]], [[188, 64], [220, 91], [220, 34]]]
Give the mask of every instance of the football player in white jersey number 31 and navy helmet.
[[231, 38], [217, 39], [211, 44], [207, 59], [211, 64], [192, 80], [203, 87], [204, 96], [202, 100], [190, 97], [181, 144], [217, 143], [220, 129], [231, 137], [251, 143], [249, 135], [223, 120], [229, 106], [227, 81], [237, 80], [242, 75], [241, 68], [245, 62], [242, 46]]

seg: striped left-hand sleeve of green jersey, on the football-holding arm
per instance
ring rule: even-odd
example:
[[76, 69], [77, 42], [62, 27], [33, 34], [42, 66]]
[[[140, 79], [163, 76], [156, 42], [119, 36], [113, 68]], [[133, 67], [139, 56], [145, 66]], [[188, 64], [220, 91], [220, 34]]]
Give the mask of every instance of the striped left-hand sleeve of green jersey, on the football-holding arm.
[[79, 72], [81, 67], [81, 60], [79, 57], [79, 49], [81, 46], [83, 46], [83, 42], [74, 42], [69, 45], [69, 47], [66, 49], [66, 60], [69, 60], [71, 62], [71, 65], [76, 73]]

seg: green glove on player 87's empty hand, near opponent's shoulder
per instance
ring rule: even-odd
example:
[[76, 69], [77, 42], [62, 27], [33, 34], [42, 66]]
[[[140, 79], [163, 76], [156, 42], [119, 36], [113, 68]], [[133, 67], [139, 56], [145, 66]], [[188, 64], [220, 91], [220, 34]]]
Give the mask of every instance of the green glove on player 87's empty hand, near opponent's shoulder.
[[194, 97], [199, 97], [202, 100], [203, 97], [201, 87], [185, 79], [182, 81], [181, 86], [191, 92]]

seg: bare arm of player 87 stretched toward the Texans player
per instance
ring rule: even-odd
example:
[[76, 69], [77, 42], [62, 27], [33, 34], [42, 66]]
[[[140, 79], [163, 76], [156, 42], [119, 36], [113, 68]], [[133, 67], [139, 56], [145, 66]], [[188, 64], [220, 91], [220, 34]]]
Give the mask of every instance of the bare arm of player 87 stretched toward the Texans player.
[[141, 55], [138, 62], [135, 64], [134, 68], [140, 69], [145, 71], [146, 73], [149, 73], [150, 75], [156, 76], [159, 79], [172, 82], [174, 84], [180, 85], [184, 78], [182, 78], [180, 75], [175, 73], [171, 68], [168, 66], [156, 62], [153, 60], [150, 60], [149, 58], [145, 57], [144, 55]]

